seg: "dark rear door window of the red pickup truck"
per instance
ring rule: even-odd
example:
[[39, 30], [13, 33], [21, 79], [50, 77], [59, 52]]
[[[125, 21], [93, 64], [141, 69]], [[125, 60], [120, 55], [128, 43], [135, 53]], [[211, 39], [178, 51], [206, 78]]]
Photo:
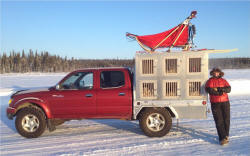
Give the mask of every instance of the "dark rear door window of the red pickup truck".
[[103, 71], [100, 77], [101, 88], [120, 87], [125, 84], [122, 71]]

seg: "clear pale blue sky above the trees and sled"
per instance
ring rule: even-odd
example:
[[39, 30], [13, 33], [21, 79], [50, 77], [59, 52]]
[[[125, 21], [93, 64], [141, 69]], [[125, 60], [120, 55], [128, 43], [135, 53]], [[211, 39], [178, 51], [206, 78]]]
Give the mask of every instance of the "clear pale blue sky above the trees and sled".
[[131, 59], [142, 50], [126, 32], [160, 33], [196, 10], [197, 49], [250, 57], [250, 1], [1, 1], [1, 53], [29, 49], [81, 59]]

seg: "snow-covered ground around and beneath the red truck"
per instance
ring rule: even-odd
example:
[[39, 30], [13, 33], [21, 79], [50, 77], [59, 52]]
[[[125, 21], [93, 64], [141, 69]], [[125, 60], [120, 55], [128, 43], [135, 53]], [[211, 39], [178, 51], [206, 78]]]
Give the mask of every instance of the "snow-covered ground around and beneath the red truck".
[[[12, 92], [56, 84], [66, 73], [0, 75], [0, 155], [250, 155], [250, 70], [224, 70], [232, 86], [230, 143], [218, 145], [212, 118], [173, 120], [170, 133], [149, 138], [138, 121], [69, 121], [36, 139], [20, 136], [5, 110]], [[210, 106], [209, 106], [210, 107]]]

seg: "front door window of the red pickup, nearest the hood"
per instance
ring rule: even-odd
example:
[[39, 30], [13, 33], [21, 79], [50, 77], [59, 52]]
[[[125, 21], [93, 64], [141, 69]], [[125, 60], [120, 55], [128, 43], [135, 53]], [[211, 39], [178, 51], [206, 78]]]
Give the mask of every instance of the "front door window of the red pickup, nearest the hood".
[[61, 85], [61, 89], [92, 89], [93, 73], [79, 72], [71, 75]]

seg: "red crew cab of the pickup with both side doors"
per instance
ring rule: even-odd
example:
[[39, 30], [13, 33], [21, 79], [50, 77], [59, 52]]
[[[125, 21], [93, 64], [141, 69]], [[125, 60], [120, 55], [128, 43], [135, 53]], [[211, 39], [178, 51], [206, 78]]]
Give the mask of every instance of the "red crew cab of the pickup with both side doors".
[[124, 118], [132, 116], [128, 68], [77, 70], [50, 92], [52, 118]]

